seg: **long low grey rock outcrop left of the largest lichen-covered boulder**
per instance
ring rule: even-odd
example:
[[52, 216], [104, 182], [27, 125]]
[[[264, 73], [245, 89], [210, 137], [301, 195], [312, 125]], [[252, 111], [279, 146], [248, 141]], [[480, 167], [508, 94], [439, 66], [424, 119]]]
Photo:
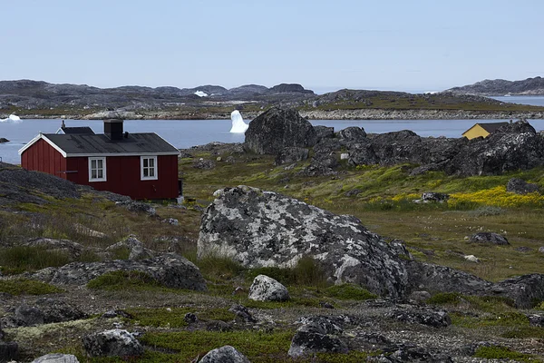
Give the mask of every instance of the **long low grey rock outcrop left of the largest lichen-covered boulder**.
[[[112, 271], [141, 271], [160, 285], [174, 289], [205, 290], [206, 281], [199, 268], [175, 253], [165, 253], [147, 260], [110, 260], [105, 262], [72, 262], [53, 269], [45, 282], [53, 285], [84, 285], [90, 280]], [[51, 268], [49, 268], [51, 271]], [[43, 277], [40, 271], [33, 276]]]

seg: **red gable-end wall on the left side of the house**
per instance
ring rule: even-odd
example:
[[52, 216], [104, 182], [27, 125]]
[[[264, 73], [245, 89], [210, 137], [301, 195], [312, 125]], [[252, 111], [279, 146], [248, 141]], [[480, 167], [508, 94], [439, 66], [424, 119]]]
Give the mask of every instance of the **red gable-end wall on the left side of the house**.
[[66, 159], [43, 139], [34, 142], [21, 154], [21, 166], [30, 171], [47, 172], [63, 179], [67, 179], [68, 175]]

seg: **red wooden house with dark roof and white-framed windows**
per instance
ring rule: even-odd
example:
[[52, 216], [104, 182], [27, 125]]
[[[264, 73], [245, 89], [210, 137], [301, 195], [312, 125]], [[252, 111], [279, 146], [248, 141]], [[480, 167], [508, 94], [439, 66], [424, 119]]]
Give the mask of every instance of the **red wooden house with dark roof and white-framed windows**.
[[77, 127], [63, 132], [40, 132], [24, 145], [19, 150], [24, 169], [135, 200], [180, 196], [180, 151], [156, 133], [123, 132], [119, 119], [104, 120], [103, 134]]

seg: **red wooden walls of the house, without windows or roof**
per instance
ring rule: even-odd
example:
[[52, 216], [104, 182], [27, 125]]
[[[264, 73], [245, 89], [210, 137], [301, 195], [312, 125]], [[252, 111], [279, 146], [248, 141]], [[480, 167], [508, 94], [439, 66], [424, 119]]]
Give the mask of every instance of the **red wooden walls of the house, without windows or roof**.
[[89, 182], [89, 159], [63, 158], [44, 140], [38, 140], [21, 155], [21, 166], [47, 172], [98, 191], [113, 191], [132, 199], [170, 199], [178, 197], [178, 156], [157, 156], [156, 181], [141, 181], [140, 156], [106, 157], [106, 182]]

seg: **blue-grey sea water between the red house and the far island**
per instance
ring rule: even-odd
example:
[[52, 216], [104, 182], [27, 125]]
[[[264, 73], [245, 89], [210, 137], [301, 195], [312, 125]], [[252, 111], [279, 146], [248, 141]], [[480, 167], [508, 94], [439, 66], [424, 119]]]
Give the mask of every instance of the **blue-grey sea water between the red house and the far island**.
[[[420, 136], [461, 137], [474, 123], [498, 123], [508, 120], [316, 120], [314, 125], [332, 126], [335, 132], [349, 126], [363, 127], [370, 133], [412, 130]], [[0, 137], [10, 142], [0, 143], [3, 162], [18, 164], [18, 150], [39, 132], [54, 133], [61, 126], [59, 120], [21, 120], [19, 123], [0, 123]], [[90, 126], [95, 133], [103, 132], [102, 120], [65, 120], [66, 126]], [[544, 120], [529, 120], [537, 130], [544, 130]], [[126, 132], [156, 132], [173, 146], [187, 149], [209, 142], [244, 142], [243, 133], [231, 133], [230, 120], [125, 120]]]

